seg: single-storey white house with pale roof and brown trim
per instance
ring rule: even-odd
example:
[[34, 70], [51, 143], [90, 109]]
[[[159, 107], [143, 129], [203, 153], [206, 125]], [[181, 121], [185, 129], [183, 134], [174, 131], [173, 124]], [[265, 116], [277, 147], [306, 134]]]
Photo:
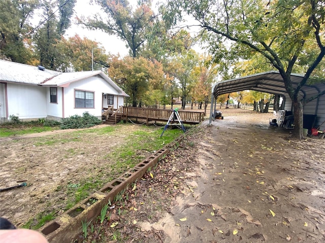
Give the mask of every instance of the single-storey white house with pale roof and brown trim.
[[128, 97], [102, 71], [57, 72], [0, 60], [0, 117], [66, 118], [85, 111], [101, 117]]

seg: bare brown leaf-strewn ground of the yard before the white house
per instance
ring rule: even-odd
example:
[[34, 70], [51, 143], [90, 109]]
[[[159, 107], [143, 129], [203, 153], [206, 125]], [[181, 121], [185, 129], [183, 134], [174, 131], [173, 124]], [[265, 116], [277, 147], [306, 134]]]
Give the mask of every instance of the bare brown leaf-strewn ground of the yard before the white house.
[[[96, 132], [99, 128], [107, 130]], [[37, 217], [46, 222], [74, 206], [75, 198], [83, 199], [113, 180], [116, 174], [112, 176], [112, 171], [122, 172], [110, 153], [124, 146], [139, 126], [125, 128], [100, 125], [0, 139], [0, 188], [27, 183], [1, 192], [1, 216], [18, 227]], [[151, 151], [139, 153], [143, 159]], [[78, 191], [81, 186], [84, 190]], [[30, 226], [38, 223], [34, 221]]]

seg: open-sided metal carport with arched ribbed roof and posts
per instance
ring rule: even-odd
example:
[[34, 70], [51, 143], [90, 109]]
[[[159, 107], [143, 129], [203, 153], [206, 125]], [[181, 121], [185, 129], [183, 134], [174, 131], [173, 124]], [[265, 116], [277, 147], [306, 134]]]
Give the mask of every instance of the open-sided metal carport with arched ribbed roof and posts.
[[[293, 87], [297, 88], [304, 75], [301, 74], [291, 74], [291, 82]], [[212, 118], [212, 111], [215, 107], [214, 99], [216, 100], [219, 95], [229, 94], [233, 92], [243, 91], [243, 90], [254, 90], [259, 92], [265, 92], [275, 95], [281, 95], [284, 102], [285, 110], [292, 110], [291, 99], [285, 90], [283, 78], [278, 71], [267, 71], [261, 72], [249, 76], [233, 78], [229, 80], [224, 80], [212, 88], [212, 99], [211, 99], [211, 112], [210, 112], [210, 124]], [[325, 83], [304, 85], [299, 96], [302, 100], [308, 100], [325, 90]], [[325, 94], [322, 94], [316, 99], [309, 101], [304, 105], [304, 114], [314, 114], [317, 115], [316, 124], [320, 125], [325, 120]], [[325, 123], [320, 127], [320, 130], [325, 130]]]

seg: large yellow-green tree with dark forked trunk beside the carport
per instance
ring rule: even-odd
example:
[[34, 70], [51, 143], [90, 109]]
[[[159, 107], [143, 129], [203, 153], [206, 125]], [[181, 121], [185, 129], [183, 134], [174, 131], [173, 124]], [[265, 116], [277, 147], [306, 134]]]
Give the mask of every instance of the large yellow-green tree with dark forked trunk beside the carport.
[[[324, 4], [323, 0], [177, 0], [169, 1], [161, 10], [170, 24], [182, 19], [181, 10], [193, 16], [215, 56], [229, 54], [231, 59], [249, 59], [255, 53], [264, 56], [283, 78], [293, 102], [293, 135], [302, 139], [303, 104], [308, 100], [300, 100], [299, 92], [316, 73], [325, 55]], [[222, 48], [219, 52], [219, 44], [226, 40], [231, 43], [228, 52]], [[296, 69], [305, 75], [294, 88], [290, 74]], [[323, 94], [325, 91], [319, 92], [318, 97]]]

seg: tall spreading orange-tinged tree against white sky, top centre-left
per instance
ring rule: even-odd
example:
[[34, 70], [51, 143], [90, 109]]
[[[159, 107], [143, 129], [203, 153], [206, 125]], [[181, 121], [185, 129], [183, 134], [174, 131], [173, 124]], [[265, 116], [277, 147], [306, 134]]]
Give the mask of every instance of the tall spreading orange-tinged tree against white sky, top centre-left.
[[135, 10], [127, 0], [93, 0], [101, 6], [107, 15], [104, 20], [97, 14], [93, 18], [84, 17], [78, 19], [79, 23], [89, 29], [100, 29], [109, 34], [114, 34], [127, 43], [132, 57], [139, 57], [139, 53], [150, 33], [154, 16], [150, 0], [138, 1]]

